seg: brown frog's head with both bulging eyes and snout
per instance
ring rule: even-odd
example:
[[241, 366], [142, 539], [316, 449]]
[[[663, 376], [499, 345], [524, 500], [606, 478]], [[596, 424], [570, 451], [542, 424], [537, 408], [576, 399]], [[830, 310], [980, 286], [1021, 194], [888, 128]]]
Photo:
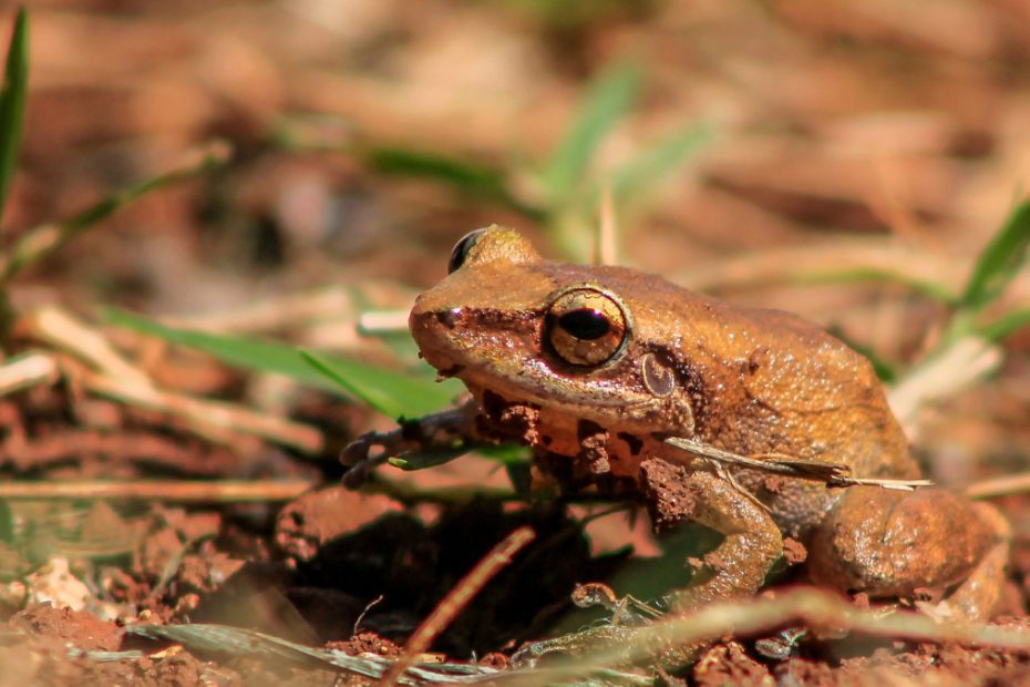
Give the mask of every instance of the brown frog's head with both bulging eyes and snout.
[[660, 337], [640, 336], [634, 317], [638, 306], [653, 311], [639, 297], [640, 279], [650, 277], [544, 260], [518, 232], [498, 226], [459, 240], [447, 271], [409, 320], [441, 375], [477, 396], [492, 391], [606, 427], [689, 430], [676, 360]]

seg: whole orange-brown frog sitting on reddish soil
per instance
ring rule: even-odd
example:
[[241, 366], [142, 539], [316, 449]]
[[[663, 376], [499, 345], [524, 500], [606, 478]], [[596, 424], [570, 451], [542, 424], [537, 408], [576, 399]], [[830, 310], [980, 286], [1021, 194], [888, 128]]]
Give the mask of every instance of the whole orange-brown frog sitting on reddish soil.
[[[440, 431], [515, 440], [563, 488], [638, 499], [657, 529], [713, 530], [721, 543], [702, 570], [684, 562], [694, 574], [671, 595], [674, 614], [756, 594], [793, 540], [814, 585], [868, 598], [938, 589], [951, 616], [991, 617], [1011, 533], [990, 504], [936, 486], [784, 479], [670, 444], [918, 479], [873, 366], [817, 325], [628, 267], [548, 260], [498, 225], [462, 237], [447, 273], [418, 296], [409, 326], [421, 357], [472, 400], [390, 438], [365, 435], [350, 462]], [[419, 427], [432, 429], [416, 439]]]

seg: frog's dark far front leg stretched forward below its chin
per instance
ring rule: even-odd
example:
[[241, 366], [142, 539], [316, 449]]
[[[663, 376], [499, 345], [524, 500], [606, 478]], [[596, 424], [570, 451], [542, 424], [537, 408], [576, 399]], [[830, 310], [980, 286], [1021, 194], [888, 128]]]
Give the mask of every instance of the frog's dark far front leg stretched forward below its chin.
[[351, 489], [360, 486], [374, 468], [393, 457], [450, 452], [450, 458], [456, 458], [471, 451], [482, 442], [475, 421], [480, 412], [478, 404], [470, 400], [418, 420], [401, 420], [400, 427], [389, 432], [361, 434], [340, 454], [340, 461], [350, 466], [343, 483]]

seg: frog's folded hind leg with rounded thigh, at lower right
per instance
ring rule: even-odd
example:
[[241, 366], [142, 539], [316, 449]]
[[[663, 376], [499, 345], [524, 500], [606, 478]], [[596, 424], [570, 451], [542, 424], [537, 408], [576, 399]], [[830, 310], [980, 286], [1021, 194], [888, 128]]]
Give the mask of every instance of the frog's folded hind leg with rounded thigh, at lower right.
[[812, 537], [808, 573], [869, 596], [948, 589], [952, 613], [987, 619], [1001, 594], [1010, 531], [990, 505], [938, 489], [852, 486]]

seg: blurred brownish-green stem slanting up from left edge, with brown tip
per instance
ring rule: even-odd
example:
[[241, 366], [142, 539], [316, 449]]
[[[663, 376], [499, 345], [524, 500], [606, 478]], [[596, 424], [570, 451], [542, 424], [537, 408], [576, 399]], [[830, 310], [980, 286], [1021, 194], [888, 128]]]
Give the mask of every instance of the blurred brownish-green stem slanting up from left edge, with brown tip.
[[59, 250], [84, 229], [96, 225], [133, 201], [158, 188], [205, 174], [226, 164], [229, 157], [228, 147], [213, 145], [204, 152], [199, 162], [130, 186], [63, 222], [34, 227], [19, 237], [18, 243], [9, 250], [0, 253], [0, 285], [7, 284], [25, 267]]

